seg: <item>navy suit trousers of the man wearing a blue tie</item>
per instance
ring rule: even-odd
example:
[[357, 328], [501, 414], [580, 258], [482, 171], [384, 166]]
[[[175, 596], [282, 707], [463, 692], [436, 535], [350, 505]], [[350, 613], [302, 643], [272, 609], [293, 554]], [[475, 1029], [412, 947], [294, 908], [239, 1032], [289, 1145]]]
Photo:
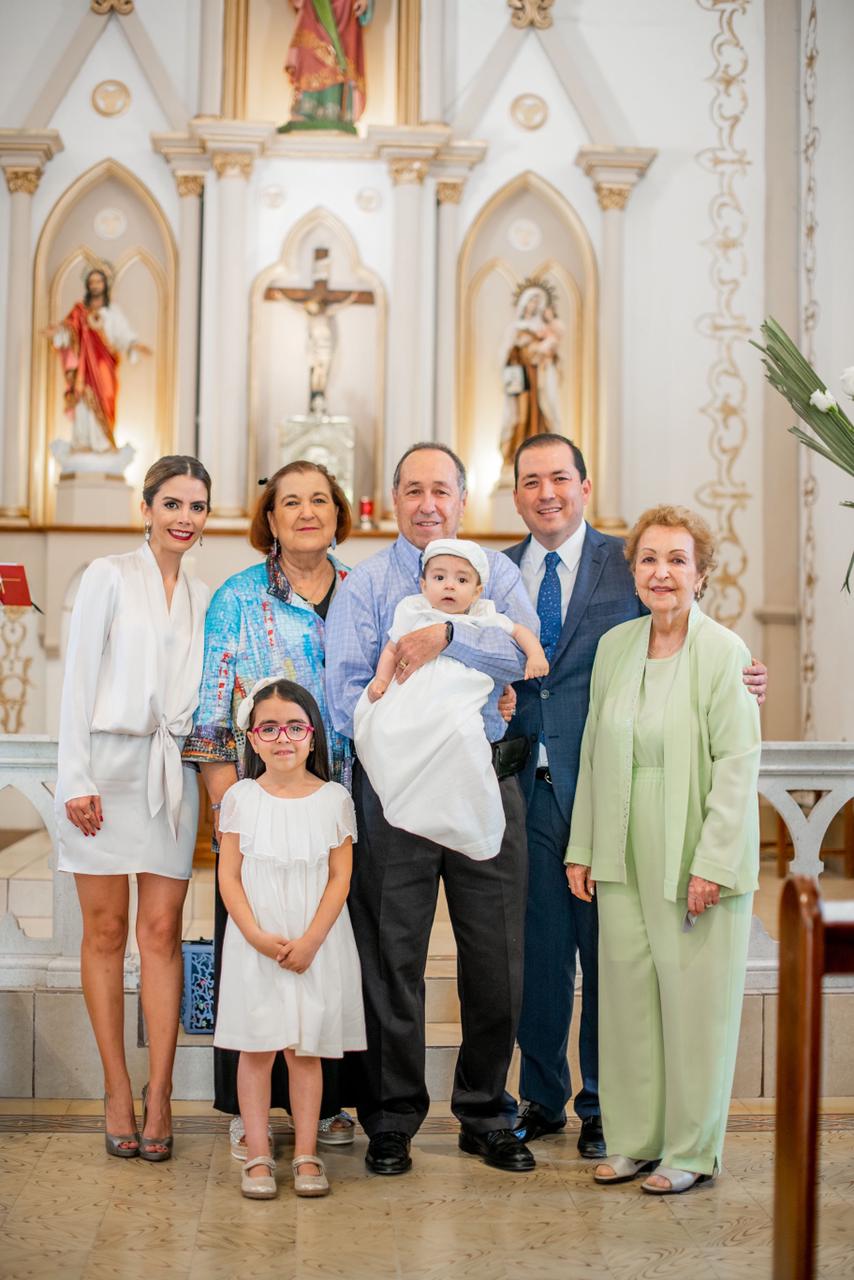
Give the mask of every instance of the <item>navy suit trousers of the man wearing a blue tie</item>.
[[525, 918], [525, 983], [519, 1044], [522, 1051], [519, 1092], [547, 1119], [566, 1115], [572, 1097], [566, 1060], [576, 954], [581, 960], [584, 1001], [579, 1057], [581, 1089], [576, 1115], [599, 1115], [598, 943], [597, 905], [574, 897], [563, 858], [570, 828], [551, 783], [538, 780], [528, 808], [528, 914]]

